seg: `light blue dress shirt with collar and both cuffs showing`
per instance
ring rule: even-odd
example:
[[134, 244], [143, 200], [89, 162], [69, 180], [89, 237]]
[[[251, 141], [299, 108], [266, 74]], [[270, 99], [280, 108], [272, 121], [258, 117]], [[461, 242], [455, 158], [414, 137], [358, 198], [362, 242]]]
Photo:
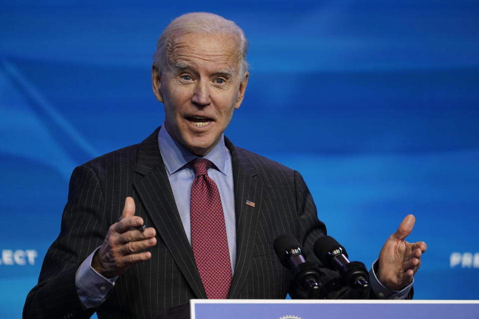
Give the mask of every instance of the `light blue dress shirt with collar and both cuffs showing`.
[[[234, 272], [236, 263], [236, 219], [233, 164], [230, 151], [225, 146], [224, 139], [224, 136], [222, 136], [221, 141], [204, 158], [211, 160], [214, 164], [208, 170], [208, 175], [216, 182], [220, 191], [223, 213], [225, 215], [230, 261], [232, 272]], [[191, 185], [195, 178], [195, 172], [193, 168], [186, 166], [186, 164], [198, 158], [198, 156], [192, 154], [173, 140], [164, 125], [158, 132], [158, 146], [168, 173], [185, 234], [191, 244], [190, 199]], [[91, 267], [91, 260], [96, 250], [83, 261], [76, 273], [78, 296], [86, 309], [101, 304], [118, 278], [105, 278]], [[369, 276], [371, 289], [378, 299], [406, 299], [413, 284], [411, 283], [401, 291], [393, 291], [387, 289], [379, 282], [372, 267]]]

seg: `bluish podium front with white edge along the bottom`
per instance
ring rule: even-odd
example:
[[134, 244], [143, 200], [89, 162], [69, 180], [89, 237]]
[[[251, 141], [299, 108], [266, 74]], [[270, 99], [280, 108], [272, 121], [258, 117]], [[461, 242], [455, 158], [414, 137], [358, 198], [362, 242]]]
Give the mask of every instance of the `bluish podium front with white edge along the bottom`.
[[479, 319], [479, 301], [192, 300], [192, 319]]

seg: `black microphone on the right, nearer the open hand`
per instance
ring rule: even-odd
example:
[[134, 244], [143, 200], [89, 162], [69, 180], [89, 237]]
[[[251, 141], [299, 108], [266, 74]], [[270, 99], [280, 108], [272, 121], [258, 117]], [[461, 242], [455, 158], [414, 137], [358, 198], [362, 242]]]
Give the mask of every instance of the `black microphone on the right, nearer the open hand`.
[[350, 262], [346, 249], [333, 237], [319, 237], [314, 243], [314, 254], [326, 267], [339, 271], [346, 285], [369, 291], [366, 266], [359, 261]]

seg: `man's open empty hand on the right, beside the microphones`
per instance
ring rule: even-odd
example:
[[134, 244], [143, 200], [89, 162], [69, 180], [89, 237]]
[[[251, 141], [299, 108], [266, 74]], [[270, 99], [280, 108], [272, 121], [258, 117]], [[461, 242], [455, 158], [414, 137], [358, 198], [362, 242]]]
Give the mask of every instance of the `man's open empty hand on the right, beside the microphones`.
[[426, 252], [426, 243], [408, 243], [404, 240], [413, 230], [415, 221], [414, 215], [407, 215], [379, 253], [377, 276], [388, 289], [401, 290], [409, 285], [421, 266], [421, 255]]

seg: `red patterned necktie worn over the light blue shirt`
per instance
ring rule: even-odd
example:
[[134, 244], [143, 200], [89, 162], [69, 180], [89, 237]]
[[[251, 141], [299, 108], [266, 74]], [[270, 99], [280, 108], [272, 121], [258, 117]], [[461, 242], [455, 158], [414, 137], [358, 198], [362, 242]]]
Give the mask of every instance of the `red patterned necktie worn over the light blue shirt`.
[[212, 162], [192, 161], [191, 245], [208, 299], [226, 299], [231, 285], [231, 262], [220, 192], [208, 176]]

